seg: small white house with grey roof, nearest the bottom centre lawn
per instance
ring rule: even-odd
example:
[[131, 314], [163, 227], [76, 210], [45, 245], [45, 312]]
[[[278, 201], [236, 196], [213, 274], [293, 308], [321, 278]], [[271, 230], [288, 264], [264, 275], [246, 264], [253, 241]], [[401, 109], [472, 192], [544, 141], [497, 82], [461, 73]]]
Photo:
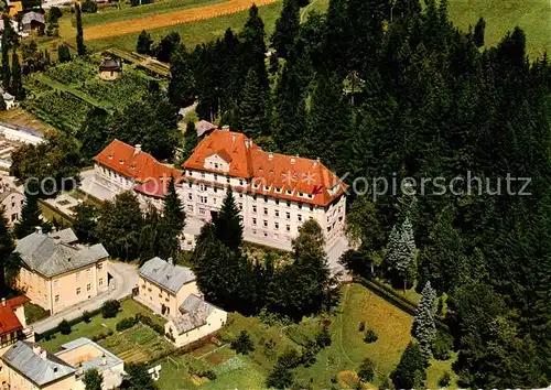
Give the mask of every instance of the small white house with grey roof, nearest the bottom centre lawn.
[[191, 294], [180, 306], [181, 315], [164, 325], [166, 337], [176, 347], [196, 342], [220, 329], [228, 319], [228, 313]]

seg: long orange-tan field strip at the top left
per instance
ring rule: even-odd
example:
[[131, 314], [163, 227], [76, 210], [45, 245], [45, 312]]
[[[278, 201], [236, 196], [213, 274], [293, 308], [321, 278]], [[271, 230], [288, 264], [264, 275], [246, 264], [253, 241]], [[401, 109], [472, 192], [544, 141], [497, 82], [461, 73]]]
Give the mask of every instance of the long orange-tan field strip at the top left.
[[191, 8], [132, 20], [94, 25], [84, 29], [84, 39], [88, 41], [138, 33], [142, 30], [170, 28], [171, 25], [192, 23], [199, 20], [224, 17], [248, 10], [252, 4], [268, 6], [280, 0], [228, 0], [226, 2]]

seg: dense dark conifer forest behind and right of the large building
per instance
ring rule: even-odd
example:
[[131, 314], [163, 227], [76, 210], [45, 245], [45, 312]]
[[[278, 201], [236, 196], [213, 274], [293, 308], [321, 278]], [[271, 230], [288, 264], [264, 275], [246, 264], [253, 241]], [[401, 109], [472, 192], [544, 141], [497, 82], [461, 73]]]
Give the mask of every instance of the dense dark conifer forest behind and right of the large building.
[[[331, 0], [303, 23], [300, 6], [284, 1], [270, 37], [253, 7], [239, 34], [177, 48], [170, 95], [198, 98], [201, 118], [267, 149], [321, 158], [348, 183], [476, 176], [471, 194], [352, 194], [357, 248], [343, 261], [447, 296], [461, 386], [548, 386], [547, 57], [528, 58], [514, 26], [484, 48], [484, 20], [458, 31], [445, 0]], [[529, 196], [507, 177], [529, 177]]]

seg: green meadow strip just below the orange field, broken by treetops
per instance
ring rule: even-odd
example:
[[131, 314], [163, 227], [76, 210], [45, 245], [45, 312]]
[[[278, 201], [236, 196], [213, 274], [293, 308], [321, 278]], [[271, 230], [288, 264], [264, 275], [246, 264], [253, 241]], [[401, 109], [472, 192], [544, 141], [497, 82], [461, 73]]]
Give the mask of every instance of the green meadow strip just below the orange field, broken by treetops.
[[[276, 20], [281, 12], [281, 2], [276, 2], [259, 8], [259, 13], [266, 24], [266, 31], [268, 34], [273, 31]], [[177, 24], [166, 29], [148, 30], [148, 32], [155, 40], [155, 42], [159, 42], [163, 36], [175, 31], [182, 36], [182, 43], [184, 43], [187, 47], [193, 48], [199, 43], [214, 41], [217, 37], [224, 36], [224, 32], [228, 28], [231, 28], [234, 31], [240, 31], [247, 21], [248, 13], [249, 11], [242, 11], [194, 23]], [[100, 51], [111, 45], [134, 51], [138, 35], [139, 33], [120, 35], [106, 40], [88, 41], [86, 42], [86, 45], [93, 51]]]

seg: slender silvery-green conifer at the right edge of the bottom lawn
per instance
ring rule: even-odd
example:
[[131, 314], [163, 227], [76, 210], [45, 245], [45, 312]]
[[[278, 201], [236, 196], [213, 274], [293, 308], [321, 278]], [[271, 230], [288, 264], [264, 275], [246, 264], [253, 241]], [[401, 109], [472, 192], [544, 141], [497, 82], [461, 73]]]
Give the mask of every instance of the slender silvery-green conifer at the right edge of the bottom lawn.
[[431, 347], [436, 338], [436, 292], [431, 288], [431, 282], [426, 282], [415, 311], [412, 328], [413, 337], [418, 339], [426, 360], [431, 358]]

